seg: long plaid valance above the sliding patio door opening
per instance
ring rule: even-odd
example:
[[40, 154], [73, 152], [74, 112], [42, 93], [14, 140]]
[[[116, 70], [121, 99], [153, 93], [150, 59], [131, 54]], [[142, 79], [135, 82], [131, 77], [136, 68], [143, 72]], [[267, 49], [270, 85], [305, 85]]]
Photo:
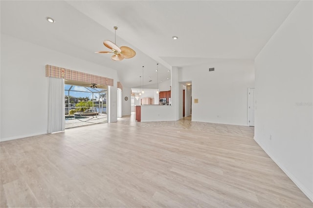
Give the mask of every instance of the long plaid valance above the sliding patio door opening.
[[107, 86], [113, 86], [113, 79], [111, 78], [100, 77], [79, 71], [73, 71], [58, 66], [45, 65], [45, 76], [54, 78], [63, 78], [66, 80], [74, 80], [85, 83], [96, 83]]

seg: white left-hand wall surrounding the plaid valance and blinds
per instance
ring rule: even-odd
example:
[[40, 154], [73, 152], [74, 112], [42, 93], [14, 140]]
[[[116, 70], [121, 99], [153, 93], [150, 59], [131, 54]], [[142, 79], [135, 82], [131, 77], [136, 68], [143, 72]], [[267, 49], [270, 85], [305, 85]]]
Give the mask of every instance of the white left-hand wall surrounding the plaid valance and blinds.
[[1, 141], [47, 132], [47, 78], [45, 65], [114, 79], [104, 66], [1, 34]]

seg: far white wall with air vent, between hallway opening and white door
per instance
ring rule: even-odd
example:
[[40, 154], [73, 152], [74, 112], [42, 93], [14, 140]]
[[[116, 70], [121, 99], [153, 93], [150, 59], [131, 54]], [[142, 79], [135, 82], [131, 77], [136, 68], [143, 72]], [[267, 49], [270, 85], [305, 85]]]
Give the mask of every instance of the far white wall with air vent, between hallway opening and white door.
[[[211, 67], [215, 71], [209, 72]], [[192, 121], [248, 125], [248, 87], [254, 86], [252, 60], [224, 60], [179, 70], [179, 82], [192, 81]]]

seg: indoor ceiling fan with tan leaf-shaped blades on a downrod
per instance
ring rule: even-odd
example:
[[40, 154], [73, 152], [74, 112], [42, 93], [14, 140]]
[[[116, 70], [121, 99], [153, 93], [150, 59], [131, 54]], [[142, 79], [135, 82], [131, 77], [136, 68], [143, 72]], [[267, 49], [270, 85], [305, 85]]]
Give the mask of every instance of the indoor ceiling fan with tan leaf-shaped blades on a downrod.
[[116, 45], [116, 30], [117, 30], [117, 27], [114, 26], [113, 28], [115, 30], [115, 42], [113, 43], [113, 42], [108, 41], [108, 40], [103, 42], [103, 44], [107, 48], [110, 48], [111, 51], [97, 51], [95, 53], [113, 53], [111, 59], [114, 60], [114, 61], [122, 61], [123, 59], [133, 58], [136, 55], [136, 52], [132, 48], [127, 47], [127, 46], [118, 47]]

